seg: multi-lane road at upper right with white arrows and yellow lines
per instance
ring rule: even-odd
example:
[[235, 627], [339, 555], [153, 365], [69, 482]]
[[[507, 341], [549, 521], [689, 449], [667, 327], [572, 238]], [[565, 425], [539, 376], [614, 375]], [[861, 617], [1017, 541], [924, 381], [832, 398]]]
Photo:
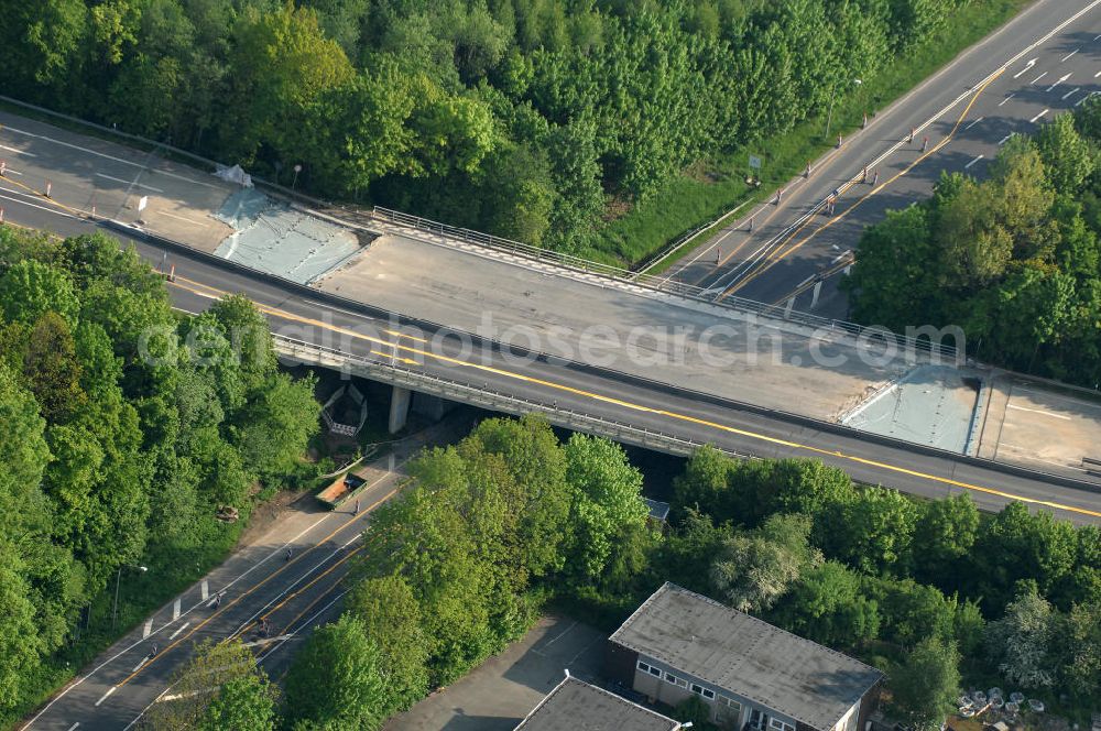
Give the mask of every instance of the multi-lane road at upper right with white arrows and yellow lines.
[[[1101, 8], [1038, 0], [914, 91], [870, 118], [765, 203], [677, 262], [669, 275], [739, 296], [843, 318], [839, 274], [865, 226], [927, 197], [941, 171], [981, 177], [1007, 135], [1032, 133], [1101, 92]], [[909, 142], [911, 130], [917, 130]], [[923, 153], [923, 141], [928, 149]], [[869, 182], [861, 183], [863, 170]], [[876, 185], [872, 181], [876, 179]], [[830, 215], [825, 201], [840, 195]], [[749, 232], [749, 218], [754, 218]], [[719, 262], [719, 265], [717, 265]], [[815, 283], [825, 280], [817, 301]]]

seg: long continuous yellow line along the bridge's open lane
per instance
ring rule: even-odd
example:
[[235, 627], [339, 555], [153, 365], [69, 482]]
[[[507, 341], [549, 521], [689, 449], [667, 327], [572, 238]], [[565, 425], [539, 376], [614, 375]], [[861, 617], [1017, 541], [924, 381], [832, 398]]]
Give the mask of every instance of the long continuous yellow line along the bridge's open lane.
[[[177, 284], [177, 286], [178, 286], [178, 284]], [[280, 309], [276, 309], [274, 307], [268, 307], [266, 305], [259, 305], [258, 304], [257, 308], [260, 309], [261, 312], [263, 312], [265, 314], [269, 314], [272, 317], [275, 317], [275, 318], [279, 318], [279, 319], [285, 319], [285, 320], [290, 320], [290, 321], [297, 321], [297, 323], [314, 325], [314, 326], [319, 327], [319, 328], [329, 329], [329, 330], [333, 330], [333, 331], [336, 331], [336, 332], [340, 332], [341, 335], [347, 335], [349, 337], [357, 338], [357, 339], [360, 339], [360, 340], [364, 340], [364, 341], [371, 342], [373, 345], [382, 346], [383, 348], [392, 348], [394, 351], [405, 351], [405, 352], [412, 353], [414, 356], [421, 356], [422, 358], [432, 358], [433, 360], [436, 360], [436, 361], [439, 361], [439, 362], [444, 362], [444, 363], [448, 363], [448, 364], [451, 364], [451, 366], [458, 366], [458, 367], [461, 367], [461, 368], [468, 368], [468, 369], [472, 369], [472, 370], [477, 370], [477, 371], [482, 371], [482, 372], [486, 372], [486, 373], [493, 373], [495, 375], [501, 375], [501, 377], [509, 378], [509, 379], [512, 379], [512, 380], [515, 380], [515, 381], [523, 381], [525, 383], [532, 383], [532, 384], [535, 384], [535, 385], [541, 385], [541, 386], [544, 386], [544, 388], [547, 388], [547, 389], [552, 389], [552, 390], [555, 390], [555, 391], [559, 391], [559, 392], [563, 392], [563, 393], [569, 393], [569, 394], [573, 394], [573, 395], [576, 395], [576, 396], [580, 396], [582, 399], [588, 399], [590, 401], [598, 401], [598, 402], [601, 402], [601, 403], [612, 404], [612, 405], [615, 405], [615, 406], [622, 406], [623, 408], [629, 408], [631, 411], [636, 411], [636, 412], [642, 412], [642, 413], [647, 413], [647, 414], [655, 414], [657, 416], [664, 416], [664, 417], [667, 417], [667, 418], [671, 418], [671, 419], [674, 419], [674, 421], [680, 421], [680, 422], [687, 422], [687, 423], [691, 423], [691, 424], [697, 424], [699, 426], [706, 426], [706, 427], [709, 427], [709, 428], [712, 428], [712, 429], [717, 429], [717, 430], [720, 430], [720, 432], [726, 432], [728, 434], [734, 434], [734, 435], [738, 435], [738, 436], [748, 437], [748, 438], [751, 438], [751, 439], [756, 439], [759, 441], [765, 441], [767, 444], [773, 444], [773, 445], [777, 445], [777, 446], [782, 446], [782, 447], [787, 447], [787, 448], [796, 449], [796, 450], [803, 450], [803, 451], [807, 451], [807, 452], [810, 452], [810, 454], [814, 454], [814, 455], [825, 455], [825, 456], [833, 457], [836, 459], [847, 460], [847, 461], [855, 462], [855, 463], [859, 463], [859, 465], [865, 465], [865, 466], [869, 466], [869, 467], [875, 467], [877, 469], [886, 470], [886, 471], [890, 471], [890, 472], [896, 472], [898, 474], [907, 474], [907, 476], [911, 476], [911, 477], [917, 477], [917, 478], [922, 478], [922, 479], [929, 480], [929, 481], [933, 481], [933, 482], [938, 482], [938, 483], [941, 483], [941, 484], [948, 484], [948, 485], [952, 485], [952, 487], [957, 487], [957, 488], [963, 488], [963, 489], [967, 489], [967, 490], [972, 490], [974, 492], [982, 492], [982, 493], [985, 493], [985, 494], [996, 495], [996, 497], [1000, 497], [1000, 498], [1005, 498], [1007, 500], [1017, 500], [1017, 501], [1021, 501], [1021, 502], [1031, 503], [1031, 504], [1035, 504], [1035, 505], [1044, 505], [1046, 508], [1053, 508], [1053, 509], [1057, 509], [1057, 510], [1064, 510], [1064, 511], [1068, 511], [1068, 512], [1071, 512], [1071, 513], [1079, 513], [1081, 515], [1090, 515], [1092, 517], [1101, 517], [1101, 512], [1088, 510], [1088, 509], [1084, 509], [1084, 508], [1076, 508], [1073, 505], [1065, 505], [1065, 504], [1061, 504], [1061, 503], [1056, 503], [1056, 502], [1050, 502], [1050, 501], [1046, 501], [1046, 500], [1040, 500], [1040, 499], [1037, 499], [1037, 498], [1026, 498], [1024, 495], [1017, 495], [1017, 494], [1014, 494], [1014, 493], [1004, 492], [1004, 491], [1001, 491], [1001, 490], [996, 490], [994, 488], [988, 488], [988, 487], [984, 487], [984, 485], [972, 484], [972, 483], [969, 483], [969, 482], [962, 482], [962, 481], [955, 480], [955, 479], [951, 479], [951, 478], [946, 478], [946, 477], [939, 477], [939, 476], [936, 476], [936, 474], [930, 474], [928, 472], [920, 472], [920, 471], [916, 471], [916, 470], [911, 470], [911, 469], [907, 469], [907, 468], [904, 468], [904, 467], [896, 467], [894, 465], [889, 465], [886, 462], [871, 460], [871, 459], [866, 459], [866, 458], [863, 458], [863, 457], [857, 457], [854, 455], [847, 455], [847, 454], [841, 452], [841, 451], [822, 449], [820, 447], [814, 447], [814, 446], [810, 446], [810, 445], [804, 445], [804, 444], [799, 444], [797, 441], [789, 441], [787, 439], [781, 439], [778, 437], [771, 437], [771, 436], [768, 436], [766, 434], [759, 434], [756, 432], [750, 432], [748, 429], [741, 429], [741, 428], [738, 428], [738, 427], [734, 427], [734, 426], [729, 426], [729, 425], [726, 425], [726, 424], [719, 424], [717, 422], [710, 422], [710, 421], [701, 419], [701, 418], [698, 418], [698, 417], [695, 417], [695, 416], [689, 416], [687, 414], [679, 414], [677, 412], [671, 412], [671, 411], [663, 410], [663, 408], [654, 408], [652, 406], [645, 406], [643, 404], [635, 404], [635, 403], [632, 403], [630, 401], [623, 401], [622, 399], [618, 399], [618, 397], [614, 397], [614, 396], [608, 396], [608, 395], [604, 395], [604, 394], [601, 394], [601, 393], [597, 393], [597, 392], [593, 392], [593, 391], [586, 391], [584, 389], [577, 389], [575, 386], [567, 385], [565, 383], [556, 383], [554, 381], [547, 381], [547, 380], [544, 380], [544, 379], [538, 379], [538, 378], [533, 378], [533, 377], [530, 377], [530, 375], [524, 375], [523, 373], [517, 373], [515, 371], [509, 371], [509, 370], [504, 370], [504, 369], [501, 369], [501, 368], [495, 368], [495, 367], [492, 367], [492, 366], [484, 366], [482, 363], [476, 363], [476, 362], [465, 361], [465, 360], [460, 360], [458, 358], [451, 358], [449, 356], [443, 356], [443, 354], [439, 354], [439, 353], [434, 353], [434, 352], [432, 352], [429, 350], [423, 350], [421, 348], [415, 348], [413, 346], [402, 345], [400, 342], [391, 342], [391, 341], [388, 341], [388, 340], [383, 340], [382, 338], [377, 338], [377, 337], [369, 336], [369, 335], [362, 335], [362, 334], [356, 332], [353, 330], [349, 330], [347, 328], [336, 327], [336, 326], [330, 325], [330, 324], [321, 323], [320, 320], [312, 319], [312, 318], [308, 318], [308, 317], [302, 317], [299, 315], [294, 315], [292, 313], [280, 310]], [[416, 361], [416, 362], [419, 362], [419, 361]]]

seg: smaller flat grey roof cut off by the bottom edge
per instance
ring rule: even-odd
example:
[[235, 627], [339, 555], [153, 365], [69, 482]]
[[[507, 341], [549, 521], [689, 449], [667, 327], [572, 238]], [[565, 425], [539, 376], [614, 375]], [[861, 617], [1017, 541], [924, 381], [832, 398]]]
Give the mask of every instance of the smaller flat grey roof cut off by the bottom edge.
[[679, 731], [671, 718], [566, 676], [515, 731]]

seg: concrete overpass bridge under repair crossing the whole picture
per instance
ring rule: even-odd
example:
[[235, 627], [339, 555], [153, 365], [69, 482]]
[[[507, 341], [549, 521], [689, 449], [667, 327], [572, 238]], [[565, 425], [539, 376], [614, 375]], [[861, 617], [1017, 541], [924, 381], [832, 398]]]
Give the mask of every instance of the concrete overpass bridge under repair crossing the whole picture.
[[[937, 362], [950, 351], [837, 320], [717, 305], [675, 282], [549, 261], [389, 211], [335, 220], [155, 155], [10, 116], [0, 123], [18, 156], [0, 181], [9, 221], [63, 234], [110, 225], [152, 263], [175, 265], [183, 309], [248, 295], [284, 354], [394, 385], [395, 425], [418, 391], [538, 411], [671, 454], [713, 444], [816, 457], [914, 494], [967, 491], [985, 509], [1021, 500], [1101, 522], [1101, 479], [1081, 462], [1101, 444], [1091, 394], [1042, 392], [1012, 374], [999, 385], [996, 373]], [[1065, 454], [1029, 460], [1006, 435]]]

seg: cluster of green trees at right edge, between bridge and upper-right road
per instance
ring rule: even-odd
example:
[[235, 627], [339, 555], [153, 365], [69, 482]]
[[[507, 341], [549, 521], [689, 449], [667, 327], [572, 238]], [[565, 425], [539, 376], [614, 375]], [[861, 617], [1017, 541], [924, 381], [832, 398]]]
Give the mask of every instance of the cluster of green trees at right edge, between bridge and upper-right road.
[[1101, 383], [1101, 100], [1014, 135], [986, 179], [944, 174], [870, 227], [843, 286], [859, 321], [959, 325], [983, 360]]

